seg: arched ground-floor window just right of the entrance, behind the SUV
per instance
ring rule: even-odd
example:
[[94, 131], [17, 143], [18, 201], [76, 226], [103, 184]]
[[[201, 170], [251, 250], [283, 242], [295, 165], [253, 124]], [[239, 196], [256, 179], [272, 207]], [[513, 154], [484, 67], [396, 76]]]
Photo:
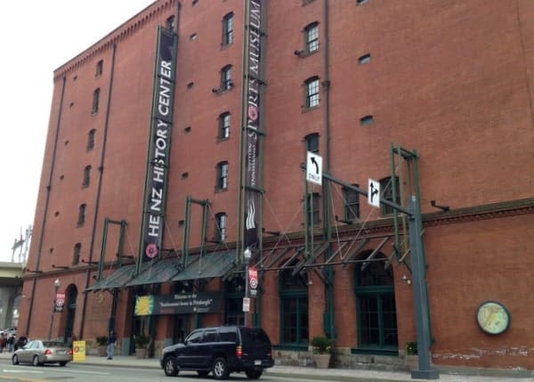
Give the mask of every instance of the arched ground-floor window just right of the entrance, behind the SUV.
[[301, 274], [292, 274], [298, 261], [288, 264], [279, 278], [280, 343], [283, 345], [308, 343], [308, 285]]

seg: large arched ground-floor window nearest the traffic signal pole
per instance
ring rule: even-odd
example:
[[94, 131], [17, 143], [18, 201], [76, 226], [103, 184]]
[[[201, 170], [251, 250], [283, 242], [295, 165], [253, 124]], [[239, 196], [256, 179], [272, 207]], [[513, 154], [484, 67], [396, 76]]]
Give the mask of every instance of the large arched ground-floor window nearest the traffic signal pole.
[[[359, 260], [367, 258], [366, 251]], [[384, 259], [377, 254], [375, 259]], [[362, 262], [354, 267], [354, 292], [358, 320], [358, 347], [397, 350], [397, 310], [393, 288], [392, 267], [383, 262]]]

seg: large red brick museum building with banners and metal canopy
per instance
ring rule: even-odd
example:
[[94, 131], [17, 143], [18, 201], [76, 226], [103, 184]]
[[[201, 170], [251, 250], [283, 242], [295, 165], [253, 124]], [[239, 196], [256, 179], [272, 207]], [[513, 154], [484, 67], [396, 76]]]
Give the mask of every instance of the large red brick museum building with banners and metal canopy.
[[[247, 321], [280, 362], [326, 335], [401, 368], [417, 277], [434, 364], [534, 369], [533, 29], [527, 0], [151, 4], [54, 71], [20, 332], [131, 354]], [[412, 195], [419, 275], [384, 203]]]

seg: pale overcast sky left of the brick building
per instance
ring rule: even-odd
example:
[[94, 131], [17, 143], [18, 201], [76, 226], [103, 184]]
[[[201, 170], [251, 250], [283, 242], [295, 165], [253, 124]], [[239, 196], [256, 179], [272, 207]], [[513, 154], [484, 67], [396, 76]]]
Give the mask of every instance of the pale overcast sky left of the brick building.
[[[155, 0], [15, 0], [0, 12], [0, 261], [34, 224], [53, 70]], [[18, 256], [15, 256], [17, 261]]]

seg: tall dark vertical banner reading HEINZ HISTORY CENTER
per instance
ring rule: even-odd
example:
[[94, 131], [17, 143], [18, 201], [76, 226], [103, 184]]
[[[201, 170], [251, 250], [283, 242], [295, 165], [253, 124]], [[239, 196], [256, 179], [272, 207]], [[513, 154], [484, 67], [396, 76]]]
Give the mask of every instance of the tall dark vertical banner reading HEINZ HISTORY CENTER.
[[166, 182], [173, 125], [176, 34], [158, 27], [150, 143], [142, 212], [142, 262], [158, 256], [165, 221]]

